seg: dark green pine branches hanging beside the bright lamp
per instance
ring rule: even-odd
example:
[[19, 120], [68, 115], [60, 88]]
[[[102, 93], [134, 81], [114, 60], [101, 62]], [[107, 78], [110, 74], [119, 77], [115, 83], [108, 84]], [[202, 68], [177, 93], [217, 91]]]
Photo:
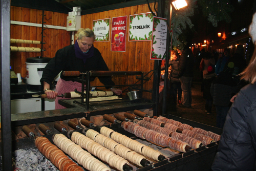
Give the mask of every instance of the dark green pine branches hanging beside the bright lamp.
[[[166, 0], [168, 4], [169, 0]], [[194, 27], [189, 17], [194, 15], [194, 10], [202, 10], [204, 16], [212, 24], [217, 27], [218, 22], [225, 20], [231, 22], [230, 13], [234, 10], [230, 5], [229, 0], [186, 0], [188, 6], [185, 10], [175, 10], [172, 12], [173, 27], [173, 47], [183, 49], [187, 44], [186, 36], [184, 34], [187, 27], [192, 29]], [[165, 6], [165, 15], [167, 16], [168, 5]], [[167, 17], [166, 17], [167, 18]]]

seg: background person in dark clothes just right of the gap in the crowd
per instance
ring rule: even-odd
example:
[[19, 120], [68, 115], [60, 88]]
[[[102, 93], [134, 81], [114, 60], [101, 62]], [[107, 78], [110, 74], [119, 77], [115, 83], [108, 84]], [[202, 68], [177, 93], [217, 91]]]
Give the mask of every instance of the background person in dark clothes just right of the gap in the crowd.
[[212, 81], [216, 78], [214, 69], [208, 66], [207, 74], [203, 75], [203, 81], [201, 86], [201, 91], [203, 92], [203, 98], [205, 99], [205, 112], [206, 114], [211, 114], [212, 97], [210, 94], [210, 87]]

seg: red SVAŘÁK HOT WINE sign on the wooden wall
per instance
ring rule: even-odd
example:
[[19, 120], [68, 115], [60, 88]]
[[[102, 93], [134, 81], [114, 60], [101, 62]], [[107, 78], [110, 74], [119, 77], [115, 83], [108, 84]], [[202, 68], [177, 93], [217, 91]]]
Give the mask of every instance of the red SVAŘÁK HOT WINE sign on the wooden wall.
[[125, 52], [127, 16], [112, 18], [111, 51]]

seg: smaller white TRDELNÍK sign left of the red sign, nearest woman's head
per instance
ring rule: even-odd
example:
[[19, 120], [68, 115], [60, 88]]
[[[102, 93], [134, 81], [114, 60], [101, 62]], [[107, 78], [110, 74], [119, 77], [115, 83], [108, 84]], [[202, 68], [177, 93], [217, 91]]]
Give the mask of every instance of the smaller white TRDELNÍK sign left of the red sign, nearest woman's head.
[[94, 41], [110, 40], [110, 18], [93, 20]]

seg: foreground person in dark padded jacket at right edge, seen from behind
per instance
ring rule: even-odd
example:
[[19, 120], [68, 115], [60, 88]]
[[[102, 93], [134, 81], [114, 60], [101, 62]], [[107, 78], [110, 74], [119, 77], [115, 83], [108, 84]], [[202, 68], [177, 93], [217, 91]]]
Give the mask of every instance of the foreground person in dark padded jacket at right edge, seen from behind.
[[[256, 13], [249, 28], [256, 46]], [[256, 50], [240, 74], [249, 81], [238, 93], [228, 111], [212, 170], [256, 169]]]

